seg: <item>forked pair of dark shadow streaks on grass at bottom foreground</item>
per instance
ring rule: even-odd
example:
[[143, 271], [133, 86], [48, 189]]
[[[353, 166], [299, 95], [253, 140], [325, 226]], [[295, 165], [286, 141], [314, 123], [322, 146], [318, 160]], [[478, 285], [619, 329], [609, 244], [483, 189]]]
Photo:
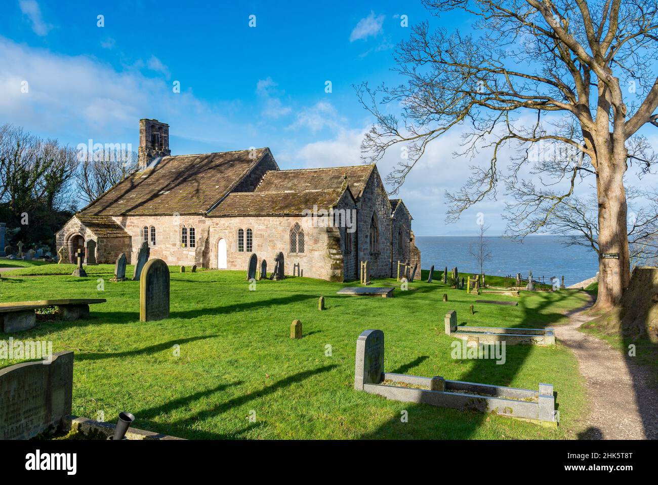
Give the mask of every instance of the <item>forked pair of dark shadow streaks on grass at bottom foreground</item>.
[[[232, 433], [229, 435], [229, 434], [217, 434], [207, 431], [197, 431], [197, 430], [192, 430], [191, 426], [194, 426], [195, 424], [198, 424], [201, 421], [215, 418], [219, 414], [226, 413], [226, 411], [229, 411], [231, 409], [236, 409], [237, 407], [245, 405], [246, 403], [249, 403], [249, 401], [253, 401], [254, 399], [260, 399], [261, 397], [265, 397], [272, 393], [276, 393], [276, 391], [279, 391], [284, 387], [288, 387], [292, 384], [295, 384], [295, 382], [302, 382], [303, 380], [306, 380], [311, 376], [322, 374], [323, 372], [328, 372], [337, 367], [338, 365], [332, 364], [329, 366], [318, 367], [316, 369], [305, 370], [303, 372], [297, 372], [297, 374], [292, 374], [291, 376], [278, 380], [272, 385], [266, 385], [265, 387], [257, 391], [253, 391], [248, 394], [234, 397], [233, 399], [229, 399], [224, 403], [218, 403], [218, 405], [216, 405], [212, 409], [199, 411], [198, 413], [191, 414], [185, 419], [167, 423], [166, 425], [162, 423], [155, 423], [155, 422], [149, 424], [151, 424], [150, 426], [151, 428], [166, 428], [167, 434], [171, 434], [173, 436], [179, 436], [181, 438], [184, 438], [185, 436], [188, 436], [189, 438], [200, 439], [200, 440], [203, 439], [222, 440], [222, 439], [235, 438], [236, 433]], [[196, 401], [197, 399], [200, 399], [201, 397], [205, 397], [215, 392], [223, 391], [224, 389], [230, 386], [240, 385], [240, 384], [242, 384], [241, 381], [232, 382], [230, 384], [220, 384], [214, 387], [213, 389], [207, 389], [206, 391], [199, 391], [197, 393], [193, 393], [186, 397], [174, 399], [173, 401], [169, 401], [168, 403], [164, 403], [163, 405], [157, 407], [144, 409], [142, 411], [139, 411], [138, 414], [136, 414], [136, 416], [138, 420], [150, 420], [155, 418], [156, 416], [159, 416], [160, 414], [171, 412], [174, 409], [178, 409], [180, 407], [187, 407], [188, 405], [190, 405], [190, 403]], [[247, 418], [246, 415], [245, 418]], [[260, 426], [260, 424], [258, 423], [250, 424], [249, 426], [247, 426], [247, 428], [243, 428], [237, 434], [244, 434], [245, 432], [257, 426]]]

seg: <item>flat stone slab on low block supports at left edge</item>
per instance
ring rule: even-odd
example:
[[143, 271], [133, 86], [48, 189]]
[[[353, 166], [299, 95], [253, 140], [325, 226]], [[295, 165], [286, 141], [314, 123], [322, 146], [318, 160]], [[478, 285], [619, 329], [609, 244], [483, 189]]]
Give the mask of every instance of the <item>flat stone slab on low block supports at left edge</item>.
[[35, 310], [39, 308], [57, 306], [64, 320], [78, 320], [89, 316], [90, 304], [106, 301], [104, 298], [71, 298], [0, 303], [0, 331], [12, 333], [35, 328], [37, 326]]

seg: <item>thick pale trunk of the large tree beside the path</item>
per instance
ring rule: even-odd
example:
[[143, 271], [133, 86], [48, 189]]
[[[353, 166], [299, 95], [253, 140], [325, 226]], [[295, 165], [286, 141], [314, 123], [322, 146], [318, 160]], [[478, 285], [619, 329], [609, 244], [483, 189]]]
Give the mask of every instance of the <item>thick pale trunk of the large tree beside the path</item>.
[[599, 291], [594, 304], [607, 310], [619, 304], [630, 283], [626, 191], [626, 152], [613, 150], [597, 163], [596, 192], [599, 203]]

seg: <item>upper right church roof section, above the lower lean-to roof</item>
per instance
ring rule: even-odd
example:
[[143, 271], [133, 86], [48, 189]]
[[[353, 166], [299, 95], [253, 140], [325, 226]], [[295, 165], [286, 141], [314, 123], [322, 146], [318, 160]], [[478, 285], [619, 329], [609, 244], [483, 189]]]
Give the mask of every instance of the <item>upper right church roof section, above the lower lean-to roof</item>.
[[355, 165], [351, 167], [329, 167], [325, 169], [294, 169], [268, 171], [256, 192], [271, 192], [272, 190], [340, 190], [345, 183], [354, 198], [359, 200], [368, 182], [374, 165]]

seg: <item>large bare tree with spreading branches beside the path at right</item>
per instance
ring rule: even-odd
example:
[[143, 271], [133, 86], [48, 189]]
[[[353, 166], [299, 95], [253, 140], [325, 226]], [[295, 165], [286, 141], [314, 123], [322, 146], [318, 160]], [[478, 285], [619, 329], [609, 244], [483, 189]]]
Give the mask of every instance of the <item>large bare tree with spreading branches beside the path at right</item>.
[[[471, 176], [451, 203], [449, 219], [485, 197], [495, 198], [499, 179], [517, 201], [514, 223], [521, 237], [550, 224], [550, 216], [595, 177], [599, 292], [597, 308], [619, 303], [630, 281], [624, 173], [638, 163], [649, 171], [656, 155], [638, 134], [658, 126], [657, 0], [426, 0], [434, 13], [465, 11], [477, 18], [477, 37], [415, 26], [396, 51], [397, 71], [407, 84], [358, 89], [376, 117], [362, 144], [366, 161], [377, 161], [393, 144], [409, 145], [409, 159], [389, 175], [403, 183], [432, 140], [453, 127], [470, 127], [463, 154], [488, 147], [486, 167]], [[379, 100], [379, 96], [383, 96]], [[635, 99], [637, 101], [635, 101]], [[380, 109], [401, 103], [397, 116]], [[520, 123], [532, 113], [534, 122]], [[499, 151], [515, 143], [519, 157], [503, 175]], [[536, 144], [553, 148], [532, 159]], [[555, 147], [559, 147], [558, 150]], [[523, 168], [539, 179], [524, 180]], [[540, 214], [542, 217], [532, 217]]]

